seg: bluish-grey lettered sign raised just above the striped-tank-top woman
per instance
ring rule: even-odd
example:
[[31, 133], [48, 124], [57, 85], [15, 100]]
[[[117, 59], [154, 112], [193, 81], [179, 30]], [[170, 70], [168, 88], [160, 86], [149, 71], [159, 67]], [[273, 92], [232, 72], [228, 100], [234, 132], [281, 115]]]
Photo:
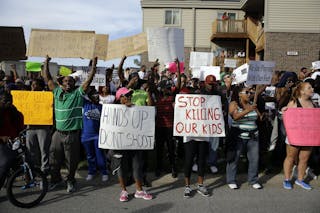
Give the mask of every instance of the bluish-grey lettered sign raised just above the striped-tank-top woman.
[[274, 67], [273, 61], [250, 61], [246, 83], [248, 85], [271, 84]]

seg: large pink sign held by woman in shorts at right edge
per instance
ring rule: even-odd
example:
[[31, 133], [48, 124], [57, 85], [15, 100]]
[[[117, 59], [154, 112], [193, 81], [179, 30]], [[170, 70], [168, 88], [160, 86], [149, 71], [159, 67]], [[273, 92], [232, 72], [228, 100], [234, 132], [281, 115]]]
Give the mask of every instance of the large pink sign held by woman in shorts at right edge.
[[283, 115], [289, 143], [320, 146], [320, 109], [289, 108]]

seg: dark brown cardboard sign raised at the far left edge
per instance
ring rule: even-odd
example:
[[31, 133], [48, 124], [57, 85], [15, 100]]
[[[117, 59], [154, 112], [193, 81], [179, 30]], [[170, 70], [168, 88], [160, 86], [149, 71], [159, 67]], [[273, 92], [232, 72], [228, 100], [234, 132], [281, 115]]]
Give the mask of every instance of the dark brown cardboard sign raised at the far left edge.
[[0, 61], [5, 60], [26, 60], [22, 27], [0, 27]]

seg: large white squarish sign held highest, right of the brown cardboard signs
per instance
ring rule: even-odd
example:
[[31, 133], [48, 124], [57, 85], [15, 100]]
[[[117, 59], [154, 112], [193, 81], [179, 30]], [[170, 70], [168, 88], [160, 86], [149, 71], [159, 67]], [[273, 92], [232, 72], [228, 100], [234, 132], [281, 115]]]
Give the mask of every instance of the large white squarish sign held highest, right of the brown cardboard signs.
[[184, 61], [184, 30], [180, 28], [148, 28], [149, 61], [159, 59], [164, 64], [178, 58]]

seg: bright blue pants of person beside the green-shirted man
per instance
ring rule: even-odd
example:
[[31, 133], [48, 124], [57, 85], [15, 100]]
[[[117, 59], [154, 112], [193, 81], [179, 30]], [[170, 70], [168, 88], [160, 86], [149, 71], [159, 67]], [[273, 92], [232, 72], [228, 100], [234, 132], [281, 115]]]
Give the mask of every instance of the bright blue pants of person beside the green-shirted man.
[[88, 174], [95, 175], [97, 166], [102, 175], [107, 175], [107, 160], [103, 149], [98, 147], [98, 138], [89, 141], [82, 141], [82, 145], [86, 150], [88, 161]]

